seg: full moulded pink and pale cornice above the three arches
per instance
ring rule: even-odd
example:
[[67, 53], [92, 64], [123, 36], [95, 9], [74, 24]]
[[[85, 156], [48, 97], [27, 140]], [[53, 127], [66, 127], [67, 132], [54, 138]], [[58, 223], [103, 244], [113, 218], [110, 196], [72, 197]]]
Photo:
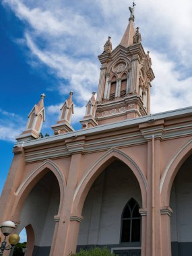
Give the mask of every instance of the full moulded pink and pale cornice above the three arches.
[[173, 119], [191, 115], [192, 107], [183, 108], [42, 139], [22, 141], [15, 143], [15, 149], [19, 149], [18, 153], [24, 149], [26, 162], [34, 162], [47, 158], [62, 158], [77, 153], [89, 154], [113, 147], [139, 145], [150, 140], [152, 135], [155, 139], [161, 140], [191, 136], [192, 121], [186, 123], [178, 121], [169, 125]]

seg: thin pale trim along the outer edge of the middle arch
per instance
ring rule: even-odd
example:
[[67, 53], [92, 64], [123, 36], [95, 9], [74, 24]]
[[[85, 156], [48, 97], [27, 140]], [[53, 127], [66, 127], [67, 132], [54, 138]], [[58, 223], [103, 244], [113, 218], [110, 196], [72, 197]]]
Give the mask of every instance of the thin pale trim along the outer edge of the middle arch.
[[112, 152], [117, 152], [119, 154], [121, 154], [122, 156], [124, 156], [125, 158], [127, 158], [134, 166], [135, 168], [137, 168], [137, 170], [139, 171], [139, 174], [141, 176], [141, 179], [143, 180], [143, 183], [147, 189], [147, 179], [145, 177], [145, 175], [143, 174], [143, 172], [141, 172], [139, 166], [137, 166], [137, 164], [131, 159], [129, 158], [129, 156], [127, 156], [125, 153], [121, 152], [121, 150], [117, 150], [117, 148], [112, 148], [110, 150], [108, 150], [108, 152], [106, 152], [103, 156], [101, 156], [98, 160], [96, 160], [96, 162], [93, 164], [93, 166], [88, 170], [88, 172], [86, 173], [86, 175], [83, 177], [83, 179], [79, 182], [79, 185], [77, 186], [77, 188], [75, 189], [75, 193], [73, 195], [73, 201], [75, 201], [75, 197], [77, 196], [77, 193], [79, 192], [80, 187], [82, 187], [82, 184], [84, 183], [84, 181], [86, 180], [86, 178], [88, 177], [88, 175], [92, 172], [92, 170], [95, 168], [95, 166], [101, 162], [104, 158], [106, 158], [106, 156], [108, 156], [110, 153]]

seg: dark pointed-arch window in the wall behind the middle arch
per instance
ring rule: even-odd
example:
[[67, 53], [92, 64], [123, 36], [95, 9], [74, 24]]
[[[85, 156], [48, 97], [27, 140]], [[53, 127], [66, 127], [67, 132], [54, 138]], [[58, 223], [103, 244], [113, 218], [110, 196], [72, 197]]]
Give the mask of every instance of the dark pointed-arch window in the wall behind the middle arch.
[[131, 198], [125, 205], [121, 217], [121, 243], [141, 241], [141, 215], [139, 205]]

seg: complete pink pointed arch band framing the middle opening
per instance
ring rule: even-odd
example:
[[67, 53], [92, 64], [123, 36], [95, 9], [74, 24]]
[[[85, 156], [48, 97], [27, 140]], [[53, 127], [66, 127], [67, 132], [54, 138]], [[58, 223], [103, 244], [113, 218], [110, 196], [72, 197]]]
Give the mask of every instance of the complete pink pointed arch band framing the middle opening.
[[82, 207], [90, 187], [99, 174], [106, 168], [106, 166], [108, 166], [114, 160], [121, 160], [133, 171], [133, 174], [135, 174], [141, 189], [143, 207], [146, 207], [147, 179], [145, 174], [141, 172], [139, 166], [137, 166], [137, 164], [129, 156], [127, 156], [127, 154], [121, 152], [121, 150], [113, 148], [108, 150], [108, 152], [96, 160], [96, 162], [94, 162], [92, 167], [88, 170], [87, 174], [79, 182], [73, 196], [73, 215], [80, 215], [82, 213]]

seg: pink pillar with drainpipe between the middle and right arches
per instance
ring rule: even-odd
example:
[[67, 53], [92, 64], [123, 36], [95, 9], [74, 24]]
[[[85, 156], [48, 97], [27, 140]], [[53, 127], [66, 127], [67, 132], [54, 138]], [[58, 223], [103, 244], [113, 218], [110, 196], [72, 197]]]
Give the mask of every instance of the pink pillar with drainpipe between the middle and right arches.
[[[162, 256], [160, 229], [160, 139], [148, 141], [146, 255]], [[143, 255], [142, 255], [143, 256]]]

